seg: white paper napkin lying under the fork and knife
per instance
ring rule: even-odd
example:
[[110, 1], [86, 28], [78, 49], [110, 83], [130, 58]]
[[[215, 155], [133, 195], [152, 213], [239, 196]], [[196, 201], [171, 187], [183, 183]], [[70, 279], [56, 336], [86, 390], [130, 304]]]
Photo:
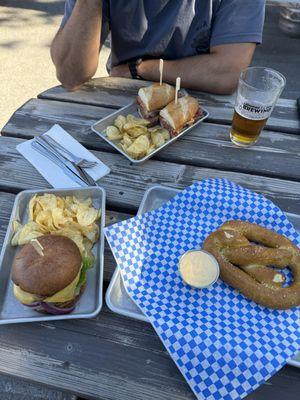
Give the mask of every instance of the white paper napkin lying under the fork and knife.
[[[77, 142], [77, 140], [69, 135], [60, 125], [53, 125], [52, 128], [46, 132], [46, 135], [52, 137], [74, 155], [86, 158], [87, 160], [96, 161], [97, 165], [95, 167], [85, 169], [95, 181], [110, 173], [110, 169], [107, 165]], [[80, 187], [80, 185], [67, 176], [60, 167], [36, 151], [31, 146], [32, 141], [33, 139], [19, 144], [17, 150], [54, 188]]]

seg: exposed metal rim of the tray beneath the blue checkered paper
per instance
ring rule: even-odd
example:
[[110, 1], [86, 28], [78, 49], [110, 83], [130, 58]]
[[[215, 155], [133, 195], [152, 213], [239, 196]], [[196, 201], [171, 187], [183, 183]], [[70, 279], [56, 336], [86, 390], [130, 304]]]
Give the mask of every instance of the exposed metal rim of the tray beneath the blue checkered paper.
[[[139, 206], [139, 208], [138, 208], [137, 215], [142, 215], [142, 210], [143, 210], [143, 208], [144, 208], [144, 206], [145, 206], [145, 202], [146, 202], [146, 199], [147, 199], [149, 193], [150, 193], [152, 190], [156, 190], [156, 189], [162, 189], [162, 190], [167, 189], [167, 190], [169, 190], [169, 191], [173, 191], [173, 192], [175, 193], [175, 195], [181, 192], [181, 189], [176, 189], [176, 188], [172, 188], [172, 187], [164, 186], [164, 185], [153, 185], [153, 186], [149, 187], [149, 188], [145, 191], [145, 193], [144, 193], [144, 196], [143, 196], [142, 201], [141, 201], [141, 203], [140, 203], [140, 206]], [[292, 214], [292, 213], [285, 212], [285, 215], [286, 215], [287, 217], [289, 217], [290, 215], [296, 215], [296, 214]], [[117, 281], [118, 276], [120, 276], [120, 279], [121, 279], [121, 282], [122, 282], [122, 284], [123, 284], [123, 286], [124, 286], [124, 289], [125, 289], [126, 294], [127, 294], [128, 297], [131, 299], [131, 297], [129, 296], [129, 294], [127, 293], [127, 290], [126, 290], [126, 288], [125, 288], [125, 285], [124, 285], [124, 282], [123, 282], [123, 278], [122, 278], [122, 274], [121, 274], [121, 270], [120, 270], [120, 268], [118, 267], [118, 265], [116, 265], [115, 271], [114, 271], [114, 273], [113, 273], [113, 276], [112, 276], [112, 278], [111, 278], [111, 280], [110, 280], [110, 282], [109, 282], [109, 286], [108, 286], [108, 288], [107, 288], [107, 290], [106, 290], [106, 293], [105, 293], [105, 302], [106, 302], [106, 305], [108, 306], [108, 308], [109, 308], [111, 311], [115, 312], [116, 314], [124, 315], [124, 316], [126, 316], [126, 317], [130, 317], [130, 318], [137, 319], [137, 320], [139, 320], [139, 321], [143, 321], [143, 322], [150, 323], [149, 320], [148, 320], [148, 318], [147, 318], [144, 314], [142, 314], [142, 313], [139, 313], [139, 314], [138, 314], [138, 313], [136, 313], [136, 312], [127, 311], [127, 310], [124, 311], [124, 310], [121, 310], [121, 309], [118, 308], [118, 307], [115, 307], [115, 306], [112, 304], [112, 302], [111, 302], [111, 300], [110, 300], [110, 297], [111, 297], [111, 293], [112, 293], [113, 287], [114, 287], [115, 284], [116, 284], [116, 281]], [[296, 353], [294, 356], [296, 356], [297, 354], [299, 354], [299, 352], [300, 352], [300, 349], [299, 349], [298, 353]], [[291, 366], [293, 366], [293, 367], [296, 367], [296, 368], [300, 368], [300, 361], [295, 360], [294, 358], [291, 358], [290, 360], [288, 360], [288, 361], [287, 361], [287, 364], [288, 364], [288, 365], [291, 365]]]

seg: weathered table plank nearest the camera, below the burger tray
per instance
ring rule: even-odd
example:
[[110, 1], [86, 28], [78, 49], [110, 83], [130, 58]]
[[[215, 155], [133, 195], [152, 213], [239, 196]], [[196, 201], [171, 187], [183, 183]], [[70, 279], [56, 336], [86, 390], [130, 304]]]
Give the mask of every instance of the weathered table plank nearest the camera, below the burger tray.
[[[88, 398], [194, 399], [152, 327], [106, 307], [97, 320], [2, 327], [0, 370]], [[249, 399], [296, 400], [299, 374], [285, 367]]]

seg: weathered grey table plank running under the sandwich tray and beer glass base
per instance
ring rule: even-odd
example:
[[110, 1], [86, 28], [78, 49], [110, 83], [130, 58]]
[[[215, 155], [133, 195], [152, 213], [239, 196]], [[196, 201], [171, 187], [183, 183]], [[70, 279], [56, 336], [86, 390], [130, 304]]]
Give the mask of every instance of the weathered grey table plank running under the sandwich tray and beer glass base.
[[[32, 138], [58, 123], [90, 149], [116, 152], [90, 126], [111, 109], [32, 99], [3, 128], [5, 136]], [[203, 123], [159, 152], [155, 159], [251, 174], [300, 179], [300, 137], [264, 131], [249, 149], [234, 146], [226, 125]]]

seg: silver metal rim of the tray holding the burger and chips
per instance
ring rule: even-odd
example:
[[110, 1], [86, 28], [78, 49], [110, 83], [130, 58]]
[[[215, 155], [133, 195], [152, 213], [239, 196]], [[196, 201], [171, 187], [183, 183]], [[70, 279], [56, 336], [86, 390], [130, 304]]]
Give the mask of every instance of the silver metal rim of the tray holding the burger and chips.
[[65, 319], [81, 319], [81, 318], [93, 318], [96, 315], [99, 314], [103, 307], [103, 273], [104, 273], [104, 226], [105, 226], [105, 206], [106, 206], [106, 191], [102, 186], [87, 186], [87, 187], [81, 187], [81, 188], [49, 188], [49, 189], [27, 189], [27, 190], [22, 190], [19, 192], [14, 201], [14, 205], [11, 211], [9, 223], [7, 226], [5, 238], [3, 241], [1, 253], [0, 253], [0, 269], [2, 267], [2, 262], [3, 262], [3, 257], [4, 253], [6, 250], [8, 243], [8, 238], [10, 236], [10, 232], [12, 229], [12, 223], [13, 223], [13, 216], [16, 214], [17, 206], [19, 203], [19, 199], [23, 194], [40, 194], [40, 193], [57, 193], [57, 192], [84, 192], [88, 189], [96, 189], [101, 192], [101, 219], [100, 219], [100, 238], [99, 238], [99, 260], [98, 263], [95, 265], [95, 268], [97, 265], [99, 265], [99, 293], [97, 296], [97, 300], [99, 302], [98, 306], [96, 309], [92, 312], [89, 313], [82, 313], [82, 314], [65, 314], [65, 315], [49, 315], [49, 314], [39, 314], [37, 313], [36, 317], [25, 317], [25, 318], [12, 318], [12, 319], [1, 319], [0, 318], [0, 325], [10, 325], [10, 324], [20, 324], [20, 323], [28, 323], [28, 322], [42, 322], [42, 321], [59, 321], [59, 320], [65, 320]]

